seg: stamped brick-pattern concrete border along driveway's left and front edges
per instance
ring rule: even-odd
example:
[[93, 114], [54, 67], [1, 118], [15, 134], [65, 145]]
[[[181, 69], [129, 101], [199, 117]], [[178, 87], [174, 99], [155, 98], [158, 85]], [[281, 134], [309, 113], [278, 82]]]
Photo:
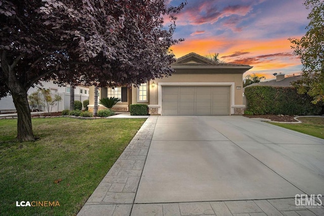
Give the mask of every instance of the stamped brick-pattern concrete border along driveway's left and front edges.
[[156, 121], [146, 120], [77, 215], [324, 215], [322, 206], [297, 208], [293, 198], [134, 204]]

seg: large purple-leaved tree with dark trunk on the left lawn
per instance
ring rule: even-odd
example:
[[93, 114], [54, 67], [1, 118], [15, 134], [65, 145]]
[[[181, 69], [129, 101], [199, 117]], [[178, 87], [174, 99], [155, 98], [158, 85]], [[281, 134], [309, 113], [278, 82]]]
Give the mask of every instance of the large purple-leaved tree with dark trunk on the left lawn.
[[[17, 139], [33, 141], [27, 91], [39, 80], [139, 85], [170, 75], [175, 13], [164, 0], [1, 0], [0, 98], [10, 93]], [[164, 27], [164, 17], [171, 24]]]

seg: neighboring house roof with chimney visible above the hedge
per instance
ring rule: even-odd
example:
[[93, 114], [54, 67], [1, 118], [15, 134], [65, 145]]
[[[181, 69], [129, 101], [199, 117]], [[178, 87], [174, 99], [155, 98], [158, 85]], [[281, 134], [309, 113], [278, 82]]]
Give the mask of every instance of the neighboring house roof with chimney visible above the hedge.
[[252, 87], [254, 85], [266, 85], [266, 86], [271, 86], [271, 87], [292, 87], [291, 83], [293, 81], [297, 81], [300, 78], [301, 78], [301, 75], [295, 76], [295, 74], [294, 74], [293, 76], [285, 77], [284, 73], [278, 73], [275, 75], [275, 79], [272, 79], [269, 81], [264, 81], [264, 82], [252, 83], [252, 84], [248, 85], [247, 87]]

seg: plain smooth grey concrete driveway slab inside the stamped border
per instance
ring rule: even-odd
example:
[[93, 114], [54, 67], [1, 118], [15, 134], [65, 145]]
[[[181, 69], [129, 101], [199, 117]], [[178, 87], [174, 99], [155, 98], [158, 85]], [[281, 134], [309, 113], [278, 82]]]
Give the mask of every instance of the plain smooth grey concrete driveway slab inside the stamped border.
[[242, 116], [159, 116], [134, 203], [324, 194], [323, 144]]

